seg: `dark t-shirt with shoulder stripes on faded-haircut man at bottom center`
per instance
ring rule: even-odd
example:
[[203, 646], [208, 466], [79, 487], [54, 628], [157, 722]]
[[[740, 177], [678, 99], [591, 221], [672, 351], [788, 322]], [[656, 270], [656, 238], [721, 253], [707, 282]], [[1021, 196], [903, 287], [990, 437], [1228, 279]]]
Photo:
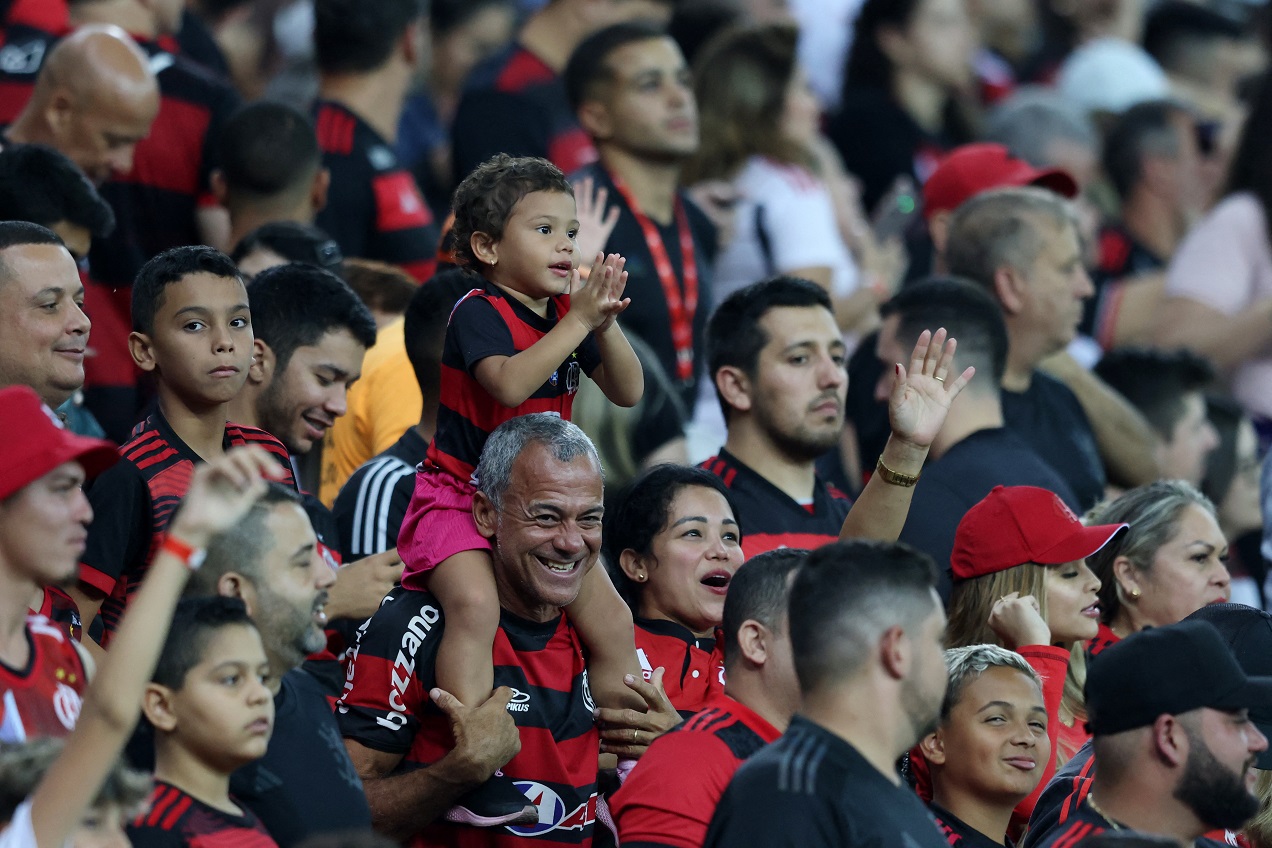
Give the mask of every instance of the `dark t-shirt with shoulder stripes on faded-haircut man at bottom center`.
[[949, 848], [923, 802], [803, 716], [738, 769], [706, 848]]

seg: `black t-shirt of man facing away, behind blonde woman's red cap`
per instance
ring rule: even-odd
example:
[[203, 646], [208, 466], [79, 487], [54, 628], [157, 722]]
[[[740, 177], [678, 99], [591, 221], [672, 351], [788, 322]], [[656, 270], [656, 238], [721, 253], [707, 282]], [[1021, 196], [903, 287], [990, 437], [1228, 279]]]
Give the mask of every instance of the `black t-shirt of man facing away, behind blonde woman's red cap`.
[[1005, 427], [973, 432], [923, 468], [909, 505], [901, 540], [936, 561], [937, 591], [950, 594], [949, 562], [958, 523], [995, 486], [1037, 486], [1060, 496], [1072, 510], [1080, 505], [1054, 469], [1016, 434]]

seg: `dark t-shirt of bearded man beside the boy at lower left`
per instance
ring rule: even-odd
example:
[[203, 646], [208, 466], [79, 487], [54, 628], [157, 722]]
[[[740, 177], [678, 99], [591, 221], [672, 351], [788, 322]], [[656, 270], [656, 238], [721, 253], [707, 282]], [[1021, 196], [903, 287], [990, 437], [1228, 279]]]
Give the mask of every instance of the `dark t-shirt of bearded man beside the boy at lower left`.
[[323, 688], [309, 673], [282, 675], [265, 756], [230, 777], [230, 793], [282, 848], [323, 833], [368, 829], [371, 810]]

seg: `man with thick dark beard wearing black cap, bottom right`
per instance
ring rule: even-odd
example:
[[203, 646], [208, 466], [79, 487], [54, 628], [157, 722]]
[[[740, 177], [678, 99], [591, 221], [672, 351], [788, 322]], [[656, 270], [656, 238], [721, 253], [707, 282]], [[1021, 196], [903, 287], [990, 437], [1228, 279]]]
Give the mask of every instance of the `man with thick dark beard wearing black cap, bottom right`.
[[1239, 829], [1259, 809], [1252, 769], [1268, 748], [1249, 713], [1269, 706], [1272, 678], [1247, 676], [1207, 622], [1158, 627], [1107, 648], [1086, 678], [1099, 768], [1081, 804], [1033, 844], [1123, 830], [1188, 845]]

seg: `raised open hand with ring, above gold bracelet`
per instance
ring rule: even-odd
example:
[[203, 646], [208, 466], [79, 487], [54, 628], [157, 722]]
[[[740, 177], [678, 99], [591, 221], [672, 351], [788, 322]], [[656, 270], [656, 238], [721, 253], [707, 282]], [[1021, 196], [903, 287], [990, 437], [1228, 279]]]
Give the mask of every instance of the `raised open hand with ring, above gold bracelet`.
[[888, 398], [888, 418], [898, 439], [917, 448], [931, 448], [945, 423], [950, 403], [968, 384], [974, 367], [968, 367], [957, 380], [950, 378], [957, 342], [945, 338], [945, 328], [934, 334], [923, 331], [909, 355], [909, 369], [897, 362], [897, 380]]

